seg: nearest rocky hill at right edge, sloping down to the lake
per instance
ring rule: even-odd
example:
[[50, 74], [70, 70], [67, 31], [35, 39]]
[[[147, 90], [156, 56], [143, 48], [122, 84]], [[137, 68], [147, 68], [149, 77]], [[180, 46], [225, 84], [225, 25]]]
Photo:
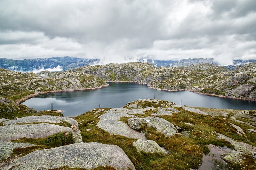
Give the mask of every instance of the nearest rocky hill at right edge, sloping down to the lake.
[[217, 73], [198, 81], [188, 89], [219, 94], [228, 98], [256, 100], [256, 63], [237, 66], [233, 71]]

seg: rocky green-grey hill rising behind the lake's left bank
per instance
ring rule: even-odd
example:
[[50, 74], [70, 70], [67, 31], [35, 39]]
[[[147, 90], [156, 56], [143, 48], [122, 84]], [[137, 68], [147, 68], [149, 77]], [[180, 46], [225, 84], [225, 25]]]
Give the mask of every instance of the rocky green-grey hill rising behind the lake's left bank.
[[91, 74], [81, 72], [58, 72], [51, 78], [43, 78], [31, 72], [0, 69], [0, 95], [12, 102], [38, 92], [95, 89], [103, 86], [108, 84]]

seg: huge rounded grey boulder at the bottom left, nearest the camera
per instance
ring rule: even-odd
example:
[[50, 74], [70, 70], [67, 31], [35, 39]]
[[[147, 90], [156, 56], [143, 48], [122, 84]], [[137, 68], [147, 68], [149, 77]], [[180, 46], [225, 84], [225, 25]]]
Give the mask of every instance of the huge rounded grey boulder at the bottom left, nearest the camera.
[[86, 169], [113, 166], [116, 169], [135, 170], [131, 160], [119, 146], [96, 142], [37, 150], [14, 160], [10, 166], [15, 167], [14, 170], [52, 169], [62, 166]]

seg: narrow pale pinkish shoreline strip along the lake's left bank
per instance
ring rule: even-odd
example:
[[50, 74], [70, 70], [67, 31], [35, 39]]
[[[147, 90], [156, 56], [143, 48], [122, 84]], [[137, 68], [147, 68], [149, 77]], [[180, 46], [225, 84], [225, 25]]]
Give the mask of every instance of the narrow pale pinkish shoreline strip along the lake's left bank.
[[103, 87], [107, 87], [109, 85], [100, 85], [99, 87], [91, 87], [91, 88], [81, 88], [81, 89], [68, 89], [68, 90], [55, 90], [55, 91], [44, 91], [44, 92], [35, 92], [34, 94], [30, 94], [27, 96], [24, 96], [21, 99], [18, 99], [15, 101], [14, 105], [19, 105], [21, 102], [24, 102], [30, 98], [33, 98], [39, 94], [46, 94], [46, 93], [55, 93], [55, 92], [68, 92], [68, 91], [80, 91], [80, 90], [94, 90], [94, 89], [100, 89]]

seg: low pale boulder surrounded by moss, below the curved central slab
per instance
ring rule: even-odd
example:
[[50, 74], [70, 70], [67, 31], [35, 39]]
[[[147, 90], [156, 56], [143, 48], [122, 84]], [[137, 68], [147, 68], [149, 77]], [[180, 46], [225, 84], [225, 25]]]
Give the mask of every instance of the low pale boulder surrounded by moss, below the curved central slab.
[[132, 145], [137, 149], [138, 152], [150, 152], [150, 153], [162, 153], [167, 155], [168, 153], [161, 148], [155, 141], [153, 140], [136, 140], [132, 143]]

